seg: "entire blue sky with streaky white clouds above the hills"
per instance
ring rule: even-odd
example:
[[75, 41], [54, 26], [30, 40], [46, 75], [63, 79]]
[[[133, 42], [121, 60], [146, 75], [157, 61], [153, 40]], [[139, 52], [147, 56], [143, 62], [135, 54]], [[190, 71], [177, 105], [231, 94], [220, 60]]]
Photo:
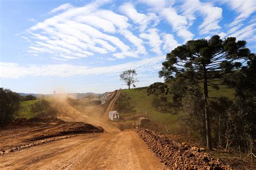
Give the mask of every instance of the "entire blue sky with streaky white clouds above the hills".
[[0, 1], [0, 87], [103, 93], [157, 81], [165, 54], [190, 39], [237, 37], [256, 52], [254, 0]]

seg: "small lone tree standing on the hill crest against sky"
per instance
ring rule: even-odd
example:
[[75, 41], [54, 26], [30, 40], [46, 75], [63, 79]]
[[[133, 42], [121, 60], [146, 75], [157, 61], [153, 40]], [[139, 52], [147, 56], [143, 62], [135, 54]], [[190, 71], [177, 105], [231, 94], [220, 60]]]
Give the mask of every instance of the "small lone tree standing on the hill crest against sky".
[[134, 77], [136, 75], [137, 73], [136, 73], [136, 70], [134, 69], [125, 70], [120, 74], [120, 80], [124, 81], [128, 86], [128, 89], [130, 89], [131, 85], [135, 87], [134, 83], [138, 82], [138, 80]]

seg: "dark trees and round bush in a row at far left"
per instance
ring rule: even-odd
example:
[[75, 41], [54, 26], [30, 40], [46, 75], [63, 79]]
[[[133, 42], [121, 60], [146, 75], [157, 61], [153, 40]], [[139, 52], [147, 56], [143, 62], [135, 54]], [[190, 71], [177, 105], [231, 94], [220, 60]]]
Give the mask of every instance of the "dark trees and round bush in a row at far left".
[[[21, 108], [21, 102], [37, 100], [35, 96], [21, 96], [9, 89], [0, 88], [0, 126], [9, 124], [15, 118], [15, 113]], [[55, 114], [56, 110], [50, 106], [49, 101], [37, 100], [31, 106], [31, 112], [38, 116]]]

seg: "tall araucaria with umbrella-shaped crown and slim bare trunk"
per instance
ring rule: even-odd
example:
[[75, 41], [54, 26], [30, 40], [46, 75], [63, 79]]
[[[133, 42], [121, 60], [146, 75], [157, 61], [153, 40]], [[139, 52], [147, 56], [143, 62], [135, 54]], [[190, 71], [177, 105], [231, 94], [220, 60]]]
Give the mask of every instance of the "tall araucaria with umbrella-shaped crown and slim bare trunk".
[[[165, 80], [183, 77], [186, 84], [203, 83], [204, 113], [207, 148], [211, 150], [211, 129], [208, 111], [208, 86], [218, 88], [219, 82], [241, 74], [239, 68], [253, 54], [246, 48], [246, 41], [236, 41], [234, 37], [221, 40], [219, 36], [211, 39], [187, 41], [166, 55], [166, 61], [159, 72]], [[218, 83], [217, 83], [218, 82]]]

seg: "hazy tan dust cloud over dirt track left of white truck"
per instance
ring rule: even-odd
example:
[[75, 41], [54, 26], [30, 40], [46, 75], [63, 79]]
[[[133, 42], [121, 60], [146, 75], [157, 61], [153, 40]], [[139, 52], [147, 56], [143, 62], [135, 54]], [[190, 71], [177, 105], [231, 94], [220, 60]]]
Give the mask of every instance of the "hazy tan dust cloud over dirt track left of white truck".
[[[76, 99], [63, 89], [48, 97], [51, 107], [56, 110], [55, 116], [68, 122], [85, 122], [94, 126], [102, 126], [106, 131], [119, 131], [108, 119], [108, 111], [113, 109], [114, 102], [119, 93], [113, 91], [109, 102], [100, 105], [100, 102], [92, 98]], [[61, 92], [61, 93], [60, 93]]]

